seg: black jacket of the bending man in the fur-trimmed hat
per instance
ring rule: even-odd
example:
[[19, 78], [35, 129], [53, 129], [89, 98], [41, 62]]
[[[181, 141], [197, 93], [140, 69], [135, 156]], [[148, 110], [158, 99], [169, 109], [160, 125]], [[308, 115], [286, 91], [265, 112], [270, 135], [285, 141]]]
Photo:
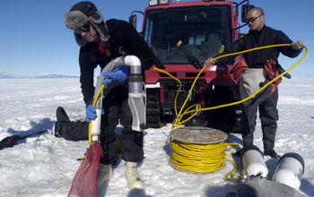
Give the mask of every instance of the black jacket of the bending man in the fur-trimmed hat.
[[80, 81], [86, 106], [92, 103], [95, 90], [93, 86], [94, 69], [97, 65], [100, 65], [102, 70], [111, 60], [118, 56], [133, 55], [141, 60], [144, 73], [144, 70], [149, 69], [155, 61], [151, 48], [129, 23], [111, 19], [106, 24], [110, 36], [110, 56], [102, 53], [93, 42], [87, 43], [80, 49]]

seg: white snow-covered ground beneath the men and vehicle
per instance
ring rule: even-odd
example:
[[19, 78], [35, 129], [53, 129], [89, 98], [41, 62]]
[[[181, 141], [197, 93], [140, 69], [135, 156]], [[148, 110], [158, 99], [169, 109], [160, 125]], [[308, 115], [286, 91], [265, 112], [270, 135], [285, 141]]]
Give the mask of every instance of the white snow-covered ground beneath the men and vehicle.
[[[305, 160], [301, 192], [314, 196], [314, 77], [292, 76], [279, 87], [278, 132], [275, 150], [296, 152]], [[2, 79], [0, 80], [0, 140], [13, 134], [48, 129], [49, 133], [19, 141], [13, 148], [0, 150], [0, 196], [66, 196], [83, 156], [87, 141], [65, 141], [53, 134], [56, 109], [65, 107], [71, 120], [83, 120], [85, 110], [79, 79]], [[225, 196], [234, 188], [225, 175], [225, 166], [214, 173], [195, 175], [170, 167], [171, 125], [148, 129], [144, 135], [144, 161], [138, 167], [144, 179], [142, 196]], [[255, 144], [263, 150], [260, 123]], [[240, 143], [240, 134], [229, 134], [229, 141]], [[235, 150], [231, 150], [232, 152]], [[239, 163], [239, 158], [235, 158]], [[276, 160], [266, 158], [270, 174]], [[130, 196], [124, 177], [124, 161], [114, 167], [114, 176], [105, 195]], [[103, 196], [103, 195], [102, 195]]]

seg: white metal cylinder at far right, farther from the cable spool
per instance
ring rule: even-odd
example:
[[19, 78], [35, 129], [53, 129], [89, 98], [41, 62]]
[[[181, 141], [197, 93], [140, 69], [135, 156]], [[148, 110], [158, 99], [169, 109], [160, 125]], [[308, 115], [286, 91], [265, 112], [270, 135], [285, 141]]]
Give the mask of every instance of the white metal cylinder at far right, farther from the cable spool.
[[299, 190], [303, 174], [304, 159], [295, 152], [289, 152], [279, 159], [272, 180]]

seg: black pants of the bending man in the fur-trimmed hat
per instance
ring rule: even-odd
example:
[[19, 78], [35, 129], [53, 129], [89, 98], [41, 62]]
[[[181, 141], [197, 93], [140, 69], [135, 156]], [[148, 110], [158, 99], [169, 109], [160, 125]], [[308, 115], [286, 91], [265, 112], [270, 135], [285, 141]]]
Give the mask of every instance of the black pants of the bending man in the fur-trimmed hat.
[[101, 116], [100, 144], [103, 155], [102, 164], [113, 164], [116, 159], [115, 129], [120, 123], [124, 129], [121, 133], [122, 158], [126, 161], [140, 162], [144, 158], [143, 133], [132, 130], [132, 113], [128, 106], [128, 88], [115, 87], [105, 93], [103, 100], [105, 114]]

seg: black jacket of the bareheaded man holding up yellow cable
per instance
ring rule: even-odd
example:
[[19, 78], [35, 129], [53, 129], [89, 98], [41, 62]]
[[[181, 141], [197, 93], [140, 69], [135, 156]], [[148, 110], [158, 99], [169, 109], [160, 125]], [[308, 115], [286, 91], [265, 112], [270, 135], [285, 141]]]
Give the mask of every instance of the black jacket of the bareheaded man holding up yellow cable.
[[[259, 31], [250, 30], [247, 35], [236, 40], [223, 54], [240, 52], [255, 47], [291, 43], [292, 40], [283, 31], [264, 26]], [[301, 50], [294, 50], [292, 47], [271, 47], [245, 53], [243, 57], [249, 64], [249, 68], [264, 68], [267, 59], [273, 59], [275, 62], [278, 62], [277, 58], [280, 53], [284, 56], [296, 57], [299, 56]], [[230, 63], [232, 58], [225, 57], [218, 59], [216, 64]]]

